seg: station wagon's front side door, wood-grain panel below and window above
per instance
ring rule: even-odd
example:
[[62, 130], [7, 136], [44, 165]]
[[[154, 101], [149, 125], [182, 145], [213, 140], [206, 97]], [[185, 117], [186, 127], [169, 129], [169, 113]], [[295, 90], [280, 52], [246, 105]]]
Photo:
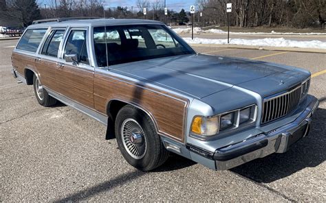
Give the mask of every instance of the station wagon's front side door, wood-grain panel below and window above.
[[[69, 29], [55, 77], [58, 93], [94, 108], [94, 67], [90, 65], [87, 36], [87, 28]], [[67, 54], [77, 54], [78, 62], [66, 62]]]

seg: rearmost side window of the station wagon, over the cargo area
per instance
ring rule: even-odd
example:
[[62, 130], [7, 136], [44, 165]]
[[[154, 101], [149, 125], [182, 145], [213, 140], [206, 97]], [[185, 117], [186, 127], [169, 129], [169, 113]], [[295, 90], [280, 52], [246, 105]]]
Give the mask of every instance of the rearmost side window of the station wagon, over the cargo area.
[[28, 29], [19, 40], [16, 49], [36, 52], [47, 29]]

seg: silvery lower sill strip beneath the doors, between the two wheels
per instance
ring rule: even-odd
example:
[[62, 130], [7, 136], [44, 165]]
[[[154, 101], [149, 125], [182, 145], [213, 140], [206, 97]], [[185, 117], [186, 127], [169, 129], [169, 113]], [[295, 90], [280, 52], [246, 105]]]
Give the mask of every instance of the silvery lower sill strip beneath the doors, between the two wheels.
[[79, 110], [80, 112], [83, 112], [85, 115], [88, 115], [89, 117], [95, 119], [96, 121], [100, 121], [100, 123], [107, 126], [107, 116], [102, 115], [100, 112], [96, 112], [95, 110], [91, 110], [90, 108], [87, 108], [83, 104], [79, 104], [76, 101], [73, 101], [72, 99], [68, 99], [67, 97], [56, 93], [52, 91], [50, 88], [47, 88], [43, 86], [43, 88], [46, 89], [47, 93], [51, 95], [52, 97], [58, 99], [59, 101], [63, 102], [63, 104], [66, 104], [67, 106], [71, 106], [72, 108], [75, 108], [76, 110]]

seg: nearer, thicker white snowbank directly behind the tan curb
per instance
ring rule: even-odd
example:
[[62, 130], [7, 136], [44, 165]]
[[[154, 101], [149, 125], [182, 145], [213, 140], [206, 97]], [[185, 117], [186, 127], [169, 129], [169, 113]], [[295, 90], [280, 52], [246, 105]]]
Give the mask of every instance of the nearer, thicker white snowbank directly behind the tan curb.
[[[192, 44], [216, 44], [226, 45], [227, 39], [206, 39], [206, 38], [184, 38], [187, 43]], [[297, 41], [297, 40], [285, 40], [284, 38], [263, 38], [255, 40], [246, 40], [239, 38], [230, 39], [230, 45], [250, 45], [250, 46], [270, 46], [270, 47], [299, 47], [299, 48], [316, 48], [326, 49], [326, 43], [319, 40], [312, 41]]]

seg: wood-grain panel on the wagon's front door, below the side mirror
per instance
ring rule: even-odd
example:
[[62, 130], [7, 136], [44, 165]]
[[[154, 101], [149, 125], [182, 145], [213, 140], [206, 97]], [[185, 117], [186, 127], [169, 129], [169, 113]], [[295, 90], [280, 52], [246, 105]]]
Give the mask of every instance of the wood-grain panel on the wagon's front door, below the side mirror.
[[65, 65], [56, 71], [57, 92], [89, 108], [94, 108], [94, 73]]

